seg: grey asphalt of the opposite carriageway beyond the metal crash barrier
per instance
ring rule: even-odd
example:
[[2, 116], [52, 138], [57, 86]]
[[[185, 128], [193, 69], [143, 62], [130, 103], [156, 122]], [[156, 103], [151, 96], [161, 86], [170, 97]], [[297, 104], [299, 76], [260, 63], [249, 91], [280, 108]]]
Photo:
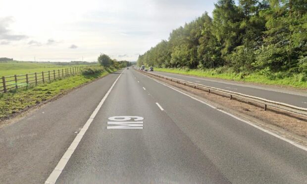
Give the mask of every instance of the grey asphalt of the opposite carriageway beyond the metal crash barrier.
[[172, 74], [167, 72], [153, 72], [153, 73], [209, 87], [214, 87], [222, 90], [240, 92], [243, 94], [248, 94], [273, 101], [284, 102], [291, 105], [307, 108], [307, 92], [303, 91], [298, 92], [288, 89], [281, 89], [281, 88], [268, 87], [268, 86], [255, 85], [255, 84], [243, 84], [232, 81], [226, 82], [218, 79], [207, 79], [202, 77], [186, 76], [186, 75]]

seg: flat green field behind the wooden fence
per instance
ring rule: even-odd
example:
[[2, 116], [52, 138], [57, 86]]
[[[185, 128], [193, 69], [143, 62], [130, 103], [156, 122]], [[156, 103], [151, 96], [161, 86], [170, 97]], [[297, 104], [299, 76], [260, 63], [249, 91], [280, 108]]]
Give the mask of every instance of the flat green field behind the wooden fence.
[[88, 66], [88, 65], [56, 65], [52, 63], [35, 63], [35, 62], [23, 62], [13, 61], [7, 63], [0, 62], [0, 77], [12, 76], [12, 75], [24, 75], [35, 72], [58, 70], [63, 68], [70, 68], [75, 66]]

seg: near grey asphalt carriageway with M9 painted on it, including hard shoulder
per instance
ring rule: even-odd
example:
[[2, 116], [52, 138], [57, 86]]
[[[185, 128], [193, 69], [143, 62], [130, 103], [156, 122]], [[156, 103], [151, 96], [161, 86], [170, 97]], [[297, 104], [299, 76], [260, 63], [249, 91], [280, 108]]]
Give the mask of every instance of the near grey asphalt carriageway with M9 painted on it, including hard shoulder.
[[132, 69], [1, 128], [0, 150], [1, 184], [307, 183], [306, 150]]

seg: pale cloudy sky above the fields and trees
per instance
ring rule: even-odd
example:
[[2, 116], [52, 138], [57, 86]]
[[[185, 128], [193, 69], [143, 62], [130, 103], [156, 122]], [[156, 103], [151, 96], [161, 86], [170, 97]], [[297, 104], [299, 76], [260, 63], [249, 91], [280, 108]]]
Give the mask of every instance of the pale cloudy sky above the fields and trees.
[[0, 57], [136, 61], [216, 0], [0, 0]]

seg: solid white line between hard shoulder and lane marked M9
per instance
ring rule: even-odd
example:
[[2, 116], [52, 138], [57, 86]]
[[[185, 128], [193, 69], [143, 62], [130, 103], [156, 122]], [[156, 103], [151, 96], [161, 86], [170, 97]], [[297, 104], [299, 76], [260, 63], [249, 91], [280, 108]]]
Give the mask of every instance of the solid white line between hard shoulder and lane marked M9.
[[100, 101], [100, 103], [98, 104], [98, 106], [96, 107], [96, 109], [94, 110], [94, 112], [92, 113], [90, 118], [88, 119], [88, 121], [85, 123], [85, 125], [83, 126], [83, 128], [81, 129], [79, 134], [76, 136], [76, 138], [73, 140], [73, 142], [70, 144], [70, 146], [68, 147], [68, 149], [66, 150], [66, 152], [64, 153], [64, 155], [62, 156], [60, 161], [57, 163], [56, 167], [54, 168], [54, 170], [52, 171], [52, 173], [50, 174], [50, 176], [46, 180], [45, 184], [55, 184], [56, 180], [58, 179], [58, 177], [62, 173], [63, 169], [65, 168], [68, 160], [70, 159], [71, 155], [73, 154], [73, 152], [77, 148], [79, 142], [83, 138], [85, 132], [88, 130], [89, 126], [91, 125], [92, 121], [94, 120], [95, 116], [97, 115], [99, 109], [102, 107], [103, 102], [105, 101], [105, 99], [107, 98], [107, 96], [109, 95], [111, 90], [113, 89], [115, 83], [120, 78], [122, 73], [123, 72], [120, 73], [120, 75], [116, 78], [116, 80], [114, 81], [114, 83], [112, 84], [110, 89], [105, 93], [102, 100]]

